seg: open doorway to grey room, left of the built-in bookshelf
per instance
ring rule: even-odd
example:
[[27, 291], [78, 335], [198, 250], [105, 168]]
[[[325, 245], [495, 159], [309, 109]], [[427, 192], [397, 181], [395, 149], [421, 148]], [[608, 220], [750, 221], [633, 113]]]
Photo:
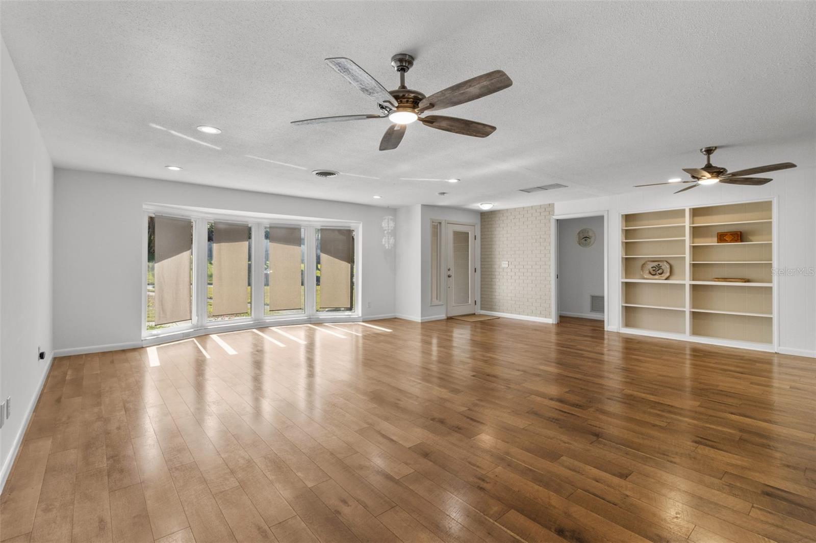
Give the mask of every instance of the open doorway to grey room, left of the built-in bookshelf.
[[552, 322], [559, 317], [606, 322], [606, 216], [553, 219]]

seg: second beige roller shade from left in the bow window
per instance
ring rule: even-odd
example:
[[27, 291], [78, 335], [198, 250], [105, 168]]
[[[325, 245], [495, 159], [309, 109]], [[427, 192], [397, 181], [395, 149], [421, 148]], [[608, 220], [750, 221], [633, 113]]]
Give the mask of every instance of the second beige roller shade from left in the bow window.
[[212, 246], [212, 316], [248, 311], [249, 227], [215, 223]]

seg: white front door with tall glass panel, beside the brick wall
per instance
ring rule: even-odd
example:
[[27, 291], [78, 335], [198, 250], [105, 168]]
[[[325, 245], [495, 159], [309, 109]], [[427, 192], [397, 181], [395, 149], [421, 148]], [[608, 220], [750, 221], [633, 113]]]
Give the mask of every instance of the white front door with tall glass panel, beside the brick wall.
[[448, 316], [476, 313], [476, 227], [448, 223]]

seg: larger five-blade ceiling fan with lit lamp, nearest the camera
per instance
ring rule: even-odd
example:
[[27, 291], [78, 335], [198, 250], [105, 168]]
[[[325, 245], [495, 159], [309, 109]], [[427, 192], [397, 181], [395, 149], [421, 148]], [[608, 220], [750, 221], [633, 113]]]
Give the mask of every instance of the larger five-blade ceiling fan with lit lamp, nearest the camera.
[[458, 117], [444, 115], [428, 115], [419, 117], [427, 111], [439, 111], [464, 104], [472, 100], [492, 95], [512, 85], [510, 77], [502, 70], [483, 73], [467, 81], [449, 86], [430, 96], [414, 91], [406, 86], [406, 73], [414, 65], [414, 57], [406, 53], [399, 53], [391, 57], [391, 65], [400, 74], [400, 86], [395, 91], [386, 91], [374, 77], [360, 68], [351, 59], [338, 57], [326, 59], [326, 64], [335, 68], [337, 72], [348, 79], [353, 86], [370, 98], [375, 99], [379, 108], [379, 115], [341, 115], [339, 117], [318, 117], [292, 121], [293, 125], [314, 125], [322, 122], [362, 121], [363, 119], [384, 119], [392, 121], [392, 125], [385, 130], [382, 141], [379, 142], [380, 151], [396, 149], [406, 133], [406, 125], [419, 121], [425, 126], [445, 130], [454, 134], [486, 138], [496, 130], [495, 126], [483, 122], [468, 121]]

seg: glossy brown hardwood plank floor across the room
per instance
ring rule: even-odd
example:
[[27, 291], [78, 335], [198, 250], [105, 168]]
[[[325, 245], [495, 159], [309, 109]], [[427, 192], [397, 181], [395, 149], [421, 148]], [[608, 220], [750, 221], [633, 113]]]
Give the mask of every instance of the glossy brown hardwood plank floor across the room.
[[0, 540], [814, 541], [814, 413], [816, 360], [566, 318], [70, 356]]

